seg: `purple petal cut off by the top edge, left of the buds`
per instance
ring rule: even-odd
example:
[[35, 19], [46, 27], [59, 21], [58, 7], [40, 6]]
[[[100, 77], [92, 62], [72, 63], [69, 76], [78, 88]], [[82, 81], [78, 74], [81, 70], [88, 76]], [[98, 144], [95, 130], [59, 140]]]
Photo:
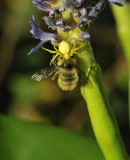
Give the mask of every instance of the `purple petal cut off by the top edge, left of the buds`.
[[32, 2], [34, 5], [36, 5], [39, 9], [43, 11], [49, 12], [52, 9], [51, 5], [46, 3], [44, 0], [33, 0]]

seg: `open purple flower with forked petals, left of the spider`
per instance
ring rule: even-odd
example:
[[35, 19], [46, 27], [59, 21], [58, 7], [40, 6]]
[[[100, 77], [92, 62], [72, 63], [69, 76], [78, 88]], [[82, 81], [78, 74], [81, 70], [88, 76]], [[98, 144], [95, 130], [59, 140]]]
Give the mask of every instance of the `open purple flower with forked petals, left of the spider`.
[[33, 21], [30, 20], [30, 25], [32, 29], [30, 32], [33, 34], [35, 39], [40, 39], [41, 42], [34, 47], [27, 55], [35, 53], [46, 41], [57, 42], [58, 35], [52, 33], [43, 32], [37, 25], [34, 16], [32, 16]]

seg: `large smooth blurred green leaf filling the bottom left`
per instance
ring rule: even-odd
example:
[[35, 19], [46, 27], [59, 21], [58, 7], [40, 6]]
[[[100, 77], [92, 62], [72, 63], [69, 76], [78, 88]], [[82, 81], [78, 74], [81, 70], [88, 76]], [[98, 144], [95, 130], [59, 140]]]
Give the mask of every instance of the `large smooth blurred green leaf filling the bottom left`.
[[2, 160], [104, 160], [95, 140], [42, 123], [0, 116]]

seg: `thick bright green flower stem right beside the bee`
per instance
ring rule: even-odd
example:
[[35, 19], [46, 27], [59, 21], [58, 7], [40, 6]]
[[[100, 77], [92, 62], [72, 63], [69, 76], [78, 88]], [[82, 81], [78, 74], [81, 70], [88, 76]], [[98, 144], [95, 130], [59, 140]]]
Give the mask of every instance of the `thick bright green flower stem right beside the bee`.
[[81, 49], [80, 55], [79, 67], [84, 73], [93, 66], [89, 75], [91, 86], [90, 83], [82, 86], [81, 93], [87, 103], [97, 142], [106, 160], [127, 160], [119, 128], [104, 91], [101, 69], [94, 60], [89, 43]]

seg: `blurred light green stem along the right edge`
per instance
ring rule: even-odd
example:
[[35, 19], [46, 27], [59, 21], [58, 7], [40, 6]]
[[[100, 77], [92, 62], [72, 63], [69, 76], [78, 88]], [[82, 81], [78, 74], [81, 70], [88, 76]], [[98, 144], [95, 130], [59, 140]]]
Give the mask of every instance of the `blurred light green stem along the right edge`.
[[112, 6], [117, 23], [117, 33], [120, 38], [128, 64], [128, 92], [129, 92], [129, 125], [130, 125], [130, 3], [119, 8]]

